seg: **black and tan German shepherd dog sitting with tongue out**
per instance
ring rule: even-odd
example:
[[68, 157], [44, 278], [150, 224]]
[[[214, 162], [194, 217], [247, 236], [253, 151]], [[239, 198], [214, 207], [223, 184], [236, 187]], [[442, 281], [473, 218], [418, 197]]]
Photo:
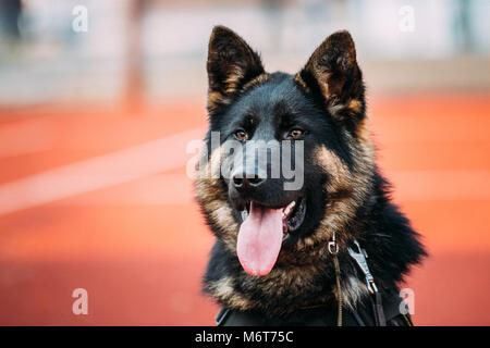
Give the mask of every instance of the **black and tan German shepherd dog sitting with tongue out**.
[[[219, 323], [334, 325], [343, 310], [339, 324], [375, 325], [372, 291], [348, 252], [356, 244], [385, 323], [411, 324], [397, 286], [426, 252], [376, 165], [351, 35], [329, 36], [291, 75], [267, 73], [244, 39], [217, 26], [207, 72], [209, 130], [195, 187], [217, 238], [204, 291], [223, 308]], [[294, 175], [273, 175], [273, 145]]]

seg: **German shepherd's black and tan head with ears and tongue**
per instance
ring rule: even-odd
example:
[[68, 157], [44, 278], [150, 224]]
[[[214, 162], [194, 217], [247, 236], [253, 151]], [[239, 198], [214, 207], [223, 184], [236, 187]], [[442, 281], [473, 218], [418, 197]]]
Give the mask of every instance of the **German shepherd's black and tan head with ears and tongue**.
[[245, 271], [306, 262], [348, 226], [372, 187], [375, 154], [362, 72], [347, 32], [329, 36], [294, 75], [218, 26], [209, 42], [209, 132], [197, 200]]

